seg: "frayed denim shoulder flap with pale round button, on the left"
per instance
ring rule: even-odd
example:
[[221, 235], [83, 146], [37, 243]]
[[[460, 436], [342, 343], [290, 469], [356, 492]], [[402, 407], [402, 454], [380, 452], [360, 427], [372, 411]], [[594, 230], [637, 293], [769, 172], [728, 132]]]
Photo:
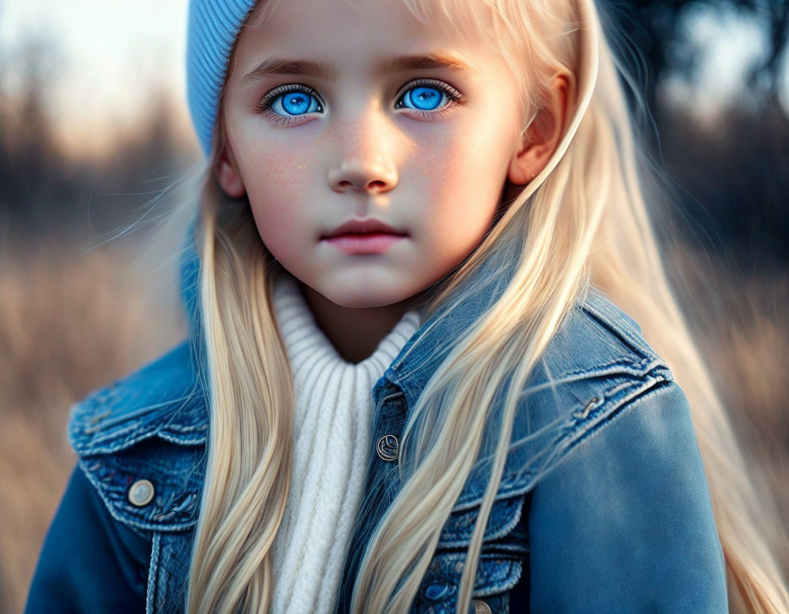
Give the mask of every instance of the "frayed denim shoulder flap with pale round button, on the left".
[[[208, 410], [193, 346], [175, 346], [70, 410], [69, 444], [110, 515], [177, 530], [196, 522]], [[134, 496], [152, 486], [151, 500]]]

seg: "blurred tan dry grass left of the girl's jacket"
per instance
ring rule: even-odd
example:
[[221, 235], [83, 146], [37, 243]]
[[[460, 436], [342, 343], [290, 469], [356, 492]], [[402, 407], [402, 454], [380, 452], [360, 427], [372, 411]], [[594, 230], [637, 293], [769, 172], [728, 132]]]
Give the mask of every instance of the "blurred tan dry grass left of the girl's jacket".
[[117, 248], [6, 246], [0, 266], [0, 612], [21, 612], [76, 462], [69, 406], [178, 343], [185, 324]]

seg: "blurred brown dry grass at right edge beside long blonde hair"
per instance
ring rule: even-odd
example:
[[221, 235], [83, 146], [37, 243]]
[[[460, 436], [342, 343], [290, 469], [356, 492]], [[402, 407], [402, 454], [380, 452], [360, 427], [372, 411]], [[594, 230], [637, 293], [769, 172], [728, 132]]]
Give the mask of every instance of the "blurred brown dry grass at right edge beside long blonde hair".
[[761, 505], [783, 526], [769, 536], [789, 578], [789, 272], [744, 275], [686, 246], [673, 255], [686, 313], [744, 444]]

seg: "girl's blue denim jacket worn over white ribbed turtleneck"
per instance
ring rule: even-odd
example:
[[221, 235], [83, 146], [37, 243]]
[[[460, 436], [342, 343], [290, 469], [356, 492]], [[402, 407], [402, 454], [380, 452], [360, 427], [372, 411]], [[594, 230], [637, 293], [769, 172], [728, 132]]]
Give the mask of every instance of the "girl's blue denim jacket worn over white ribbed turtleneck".
[[[209, 426], [199, 265], [194, 249], [185, 256], [189, 338], [71, 409], [78, 466], [39, 556], [27, 614], [184, 611]], [[338, 614], [348, 611], [366, 540], [402, 486], [398, 463], [376, 444], [400, 440], [441, 358], [432, 349], [486, 304], [466, 301], [427, 333], [424, 323], [373, 388], [373, 444]], [[592, 290], [552, 338], [528, 393], [512, 437], [558, 423], [553, 469], [535, 483], [524, 470], [534, 448], [510, 451], [471, 612], [727, 612], [723, 551], [686, 396], [638, 324]], [[411, 612], [454, 612], [485, 485], [473, 471]]]

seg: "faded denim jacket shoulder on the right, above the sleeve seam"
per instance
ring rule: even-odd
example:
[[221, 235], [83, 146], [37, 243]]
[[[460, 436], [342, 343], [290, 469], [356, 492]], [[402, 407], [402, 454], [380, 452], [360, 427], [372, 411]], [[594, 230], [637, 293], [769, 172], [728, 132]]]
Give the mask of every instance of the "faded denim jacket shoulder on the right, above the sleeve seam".
[[[679, 403], [677, 411], [687, 417], [682, 425], [690, 424], [682, 389], [638, 323], [591, 288], [570, 309], [519, 391], [498, 496], [532, 490], [540, 476], [564, 462], [585, 438], [618, 420], [626, 408], [653, 412], [655, 403], [636, 404], [645, 395]], [[656, 433], [667, 426], [660, 420], [652, 424]], [[470, 481], [461, 504], [481, 498], [481, 476]]]

